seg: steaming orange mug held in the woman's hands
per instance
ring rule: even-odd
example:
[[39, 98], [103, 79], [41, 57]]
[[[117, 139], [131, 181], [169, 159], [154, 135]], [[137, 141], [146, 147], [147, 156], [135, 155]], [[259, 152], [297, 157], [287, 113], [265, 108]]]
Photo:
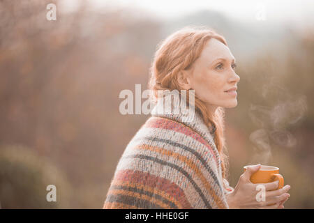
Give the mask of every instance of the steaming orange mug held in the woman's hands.
[[[244, 171], [246, 171], [247, 167], [245, 166]], [[251, 176], [251, 182], [252, 183], [271, 183], [278, 180], [278, 189], [281, 189], [284, 185], [283, 176], [279, 174], [279, 168], [278, 167], [272, 167], [272, 166], [264, 166], [261, 165], [260, 169], [256, 171]], [[272, 203], [274, 204], [274, 203]], [[272, 204], [269, 204], [271, 206]]]

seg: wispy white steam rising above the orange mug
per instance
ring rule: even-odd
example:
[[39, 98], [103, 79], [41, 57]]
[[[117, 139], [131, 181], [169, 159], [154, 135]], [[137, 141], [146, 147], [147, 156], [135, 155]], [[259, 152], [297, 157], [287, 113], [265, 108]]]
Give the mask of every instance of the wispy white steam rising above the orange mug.
[[[262, 96], [266, 98], [269, 89], [264, 87], [263, 90]], [[248, 111], [253, 123], [259, 127], [249, 137], [255, 151], [252, 163], [268, 164], [271, 159], [271, 142], [283, 147], [297, 144], [297, 139], [287, 127], [297, 123], [304, 116], [307, 109], [306, 97], [299, 95], [292, 99], [284, 89], [276, 88], [276, 91], [279, 93], [278, 100], [281, 100], [276, 105], [251, 105]]]

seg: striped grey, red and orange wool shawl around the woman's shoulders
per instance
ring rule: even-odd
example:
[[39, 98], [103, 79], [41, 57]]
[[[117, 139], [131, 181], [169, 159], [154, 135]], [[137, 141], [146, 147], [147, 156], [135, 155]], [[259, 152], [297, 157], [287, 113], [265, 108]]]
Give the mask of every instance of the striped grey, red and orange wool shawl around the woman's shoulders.
[[160, 106], [126, 146], [103, 208], [228, 208], [233, 188], [201, 114], [160, 114]]

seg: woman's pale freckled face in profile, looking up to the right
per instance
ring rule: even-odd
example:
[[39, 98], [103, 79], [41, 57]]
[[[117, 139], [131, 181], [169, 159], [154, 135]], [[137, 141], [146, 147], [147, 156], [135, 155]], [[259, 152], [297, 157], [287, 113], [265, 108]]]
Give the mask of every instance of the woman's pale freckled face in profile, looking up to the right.
[[236, 107], [237, 93], [226, 91], [237, 87], [240, 80], [235, 69], [234, 56], [230, 49], [215, 38], [205, 45], [202, 54], [194, 62], [190, 87], [215, 112], [217, 107]]

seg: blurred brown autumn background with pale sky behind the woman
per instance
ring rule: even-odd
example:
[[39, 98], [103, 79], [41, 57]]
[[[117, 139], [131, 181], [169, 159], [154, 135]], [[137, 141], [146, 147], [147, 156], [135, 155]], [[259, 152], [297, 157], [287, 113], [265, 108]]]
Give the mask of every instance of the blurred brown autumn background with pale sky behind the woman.
[[147, 89], [157, 44], [186, 25], [215, 29], [237, 60], [230, 185], [246, 164], [274, 165], [291, 185], [285, 208], [314, 208], [313, 15], [311, 0], [1, 0], [1, 208], [102, 208], [149, 118], [120, 114], [119, 93]]

